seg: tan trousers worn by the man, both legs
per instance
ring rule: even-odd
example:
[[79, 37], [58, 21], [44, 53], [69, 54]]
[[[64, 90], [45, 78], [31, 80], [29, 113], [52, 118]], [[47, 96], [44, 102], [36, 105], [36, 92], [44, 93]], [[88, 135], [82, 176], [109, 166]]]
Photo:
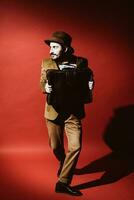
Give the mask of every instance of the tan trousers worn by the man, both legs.
[[[59, 176], [59, 181], [70, 184], [81, 150], [81, 121], [74, 115], [70, 115], [70, 117], [67, 120], [65, 120], [64, 126], [54, 124], [49, 120], [46, 120], [46, 124], [48, 128], [50, 147], [52, 148], [56, 158], [61, 163], [63, 162], [63, 167]], [[64, 150], [64, 129], [68, 142], [68, 149], [66, 153]]]

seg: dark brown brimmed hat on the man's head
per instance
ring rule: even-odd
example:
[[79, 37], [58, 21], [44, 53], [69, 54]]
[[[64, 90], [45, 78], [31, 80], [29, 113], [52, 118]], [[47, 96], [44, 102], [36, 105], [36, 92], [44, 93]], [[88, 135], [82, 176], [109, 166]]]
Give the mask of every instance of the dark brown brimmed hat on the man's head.
[[44, 40], [47, 45], [50, 45], [50, 42], [57, 42], [63, 46], [71, 47], [72, 37], [63, 31], [56, 31], [52, 33], [51, 38]]

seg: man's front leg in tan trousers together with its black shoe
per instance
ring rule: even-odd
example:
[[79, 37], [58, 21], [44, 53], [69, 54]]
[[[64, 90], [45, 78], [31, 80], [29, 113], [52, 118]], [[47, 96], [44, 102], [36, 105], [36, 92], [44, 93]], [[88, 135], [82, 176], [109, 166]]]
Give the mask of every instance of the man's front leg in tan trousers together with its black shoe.
[[55, 191], [73, 196], [81, 196], [82, 193], [79, 190], [69, 185], [81, 150], [82, 131], [80, 120], [71, 115], [65, 121], [65, 130], [68, 139], [68, 152], [63, 163], [59, 181], [56, 183]]

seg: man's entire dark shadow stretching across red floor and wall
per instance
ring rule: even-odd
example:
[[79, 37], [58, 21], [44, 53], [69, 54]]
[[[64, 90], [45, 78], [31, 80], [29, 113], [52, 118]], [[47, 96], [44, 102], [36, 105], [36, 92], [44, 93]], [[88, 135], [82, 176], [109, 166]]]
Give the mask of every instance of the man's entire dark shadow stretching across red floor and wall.
[[103, 139], [112, 152], [81, 169], [77, 175], [104, 172], [96, 180], [74, 186], [76, 189], [109, 184], [120, 180], [134, 171], [134, 105], [115, 109]]

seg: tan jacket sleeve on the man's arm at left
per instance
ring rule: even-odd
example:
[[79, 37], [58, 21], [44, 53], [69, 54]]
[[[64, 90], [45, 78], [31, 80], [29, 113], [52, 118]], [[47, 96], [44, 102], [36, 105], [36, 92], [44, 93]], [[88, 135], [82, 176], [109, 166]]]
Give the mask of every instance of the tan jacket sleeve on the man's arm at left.
[[46, 82], [47, 82], [47, 79], [46, 79], [45, 61], [43, 60], [41, 64], [41, 75], [40, 75], [40, 87], [43, 93], [45, 93]]

